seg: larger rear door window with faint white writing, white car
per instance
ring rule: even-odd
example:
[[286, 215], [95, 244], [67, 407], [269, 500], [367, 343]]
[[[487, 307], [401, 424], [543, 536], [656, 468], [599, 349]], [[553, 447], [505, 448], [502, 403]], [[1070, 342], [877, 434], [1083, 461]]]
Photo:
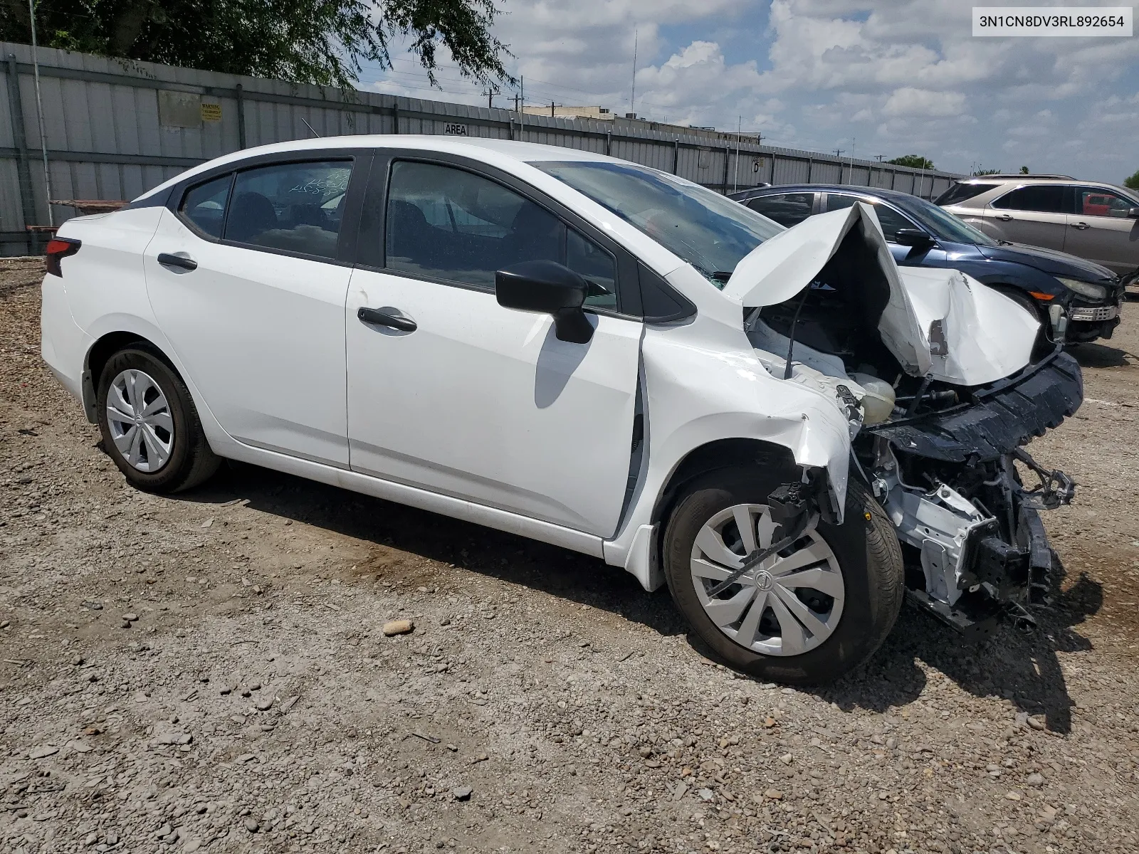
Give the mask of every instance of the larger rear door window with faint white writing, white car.
[[351, 161], [284, 163], [237, 173], [227, 240], [336, 257]]

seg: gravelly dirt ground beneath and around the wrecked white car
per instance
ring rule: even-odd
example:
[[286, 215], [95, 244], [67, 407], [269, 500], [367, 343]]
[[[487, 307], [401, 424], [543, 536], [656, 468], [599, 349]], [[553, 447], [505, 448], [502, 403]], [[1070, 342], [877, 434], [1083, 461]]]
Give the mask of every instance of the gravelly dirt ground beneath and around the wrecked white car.
[[126, 488], [41, 276], [0, 261], [0, 851], [1139, 851], [1139, 304], [1031, 449], [1080, 483], [1040, 626], [907, 608], [793, 690], [580, 555], [247, 466]]

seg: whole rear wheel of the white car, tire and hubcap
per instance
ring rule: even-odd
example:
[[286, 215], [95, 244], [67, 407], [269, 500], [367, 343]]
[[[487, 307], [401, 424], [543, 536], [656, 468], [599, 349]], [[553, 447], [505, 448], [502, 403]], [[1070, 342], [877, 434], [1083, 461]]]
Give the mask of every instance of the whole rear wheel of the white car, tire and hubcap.
[[218, 470], [221, 460], [186, 384], [149, 350], [121, 350], [107, 360], [96, 411], [107, 453], [140, 490], [188, 490]]

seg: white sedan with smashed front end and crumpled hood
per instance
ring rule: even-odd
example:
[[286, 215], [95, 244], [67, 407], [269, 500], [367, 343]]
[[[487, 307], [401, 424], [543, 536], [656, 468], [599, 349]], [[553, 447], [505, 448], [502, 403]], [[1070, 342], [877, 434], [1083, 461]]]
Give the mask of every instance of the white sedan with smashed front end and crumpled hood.
[[230, 458], [556, 543], [785, 682], [865, 660], [907, 593], [978, 631], [1047, 590], [1073, 485], [1022, 445], [1080, 369], [1032, 363], [1001, 294], [899, 270], [862, 205], [784, 230], [585, 151], [346, 137], [48, 253], [43, 358], [139, 488]]

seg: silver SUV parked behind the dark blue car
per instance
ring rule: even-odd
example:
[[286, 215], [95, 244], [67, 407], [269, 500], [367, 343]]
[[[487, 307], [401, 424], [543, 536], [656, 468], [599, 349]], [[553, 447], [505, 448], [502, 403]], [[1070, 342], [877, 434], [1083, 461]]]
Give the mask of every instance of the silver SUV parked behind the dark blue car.
[[936, 204], [990, 237], [1060, 249], [1123, 279], [1139, 272], [1139, 192], [1070, 175], [983, 175]]

